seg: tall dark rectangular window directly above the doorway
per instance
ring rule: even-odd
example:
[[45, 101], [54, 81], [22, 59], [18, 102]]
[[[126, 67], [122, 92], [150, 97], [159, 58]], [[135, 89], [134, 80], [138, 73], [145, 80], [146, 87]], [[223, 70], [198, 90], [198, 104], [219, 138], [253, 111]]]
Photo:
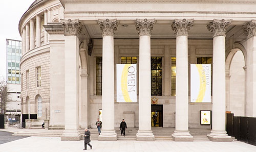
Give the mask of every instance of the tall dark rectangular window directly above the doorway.
[[151, 95], [162, 95], [162, 57], [151, 57]]

